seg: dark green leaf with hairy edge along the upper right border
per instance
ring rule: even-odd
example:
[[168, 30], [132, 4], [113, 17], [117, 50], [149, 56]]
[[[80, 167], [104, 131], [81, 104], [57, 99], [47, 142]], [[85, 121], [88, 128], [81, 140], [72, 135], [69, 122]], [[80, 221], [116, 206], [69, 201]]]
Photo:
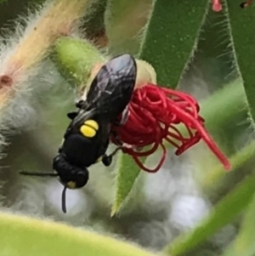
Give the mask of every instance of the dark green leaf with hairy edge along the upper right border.
[[239, 3], [233, 0], [224, 0], [229, 11], [229, 28], [234, 48], [235, 61], [243, 79], [249, 112], [255, 128], [255, 6], [241, 9]]

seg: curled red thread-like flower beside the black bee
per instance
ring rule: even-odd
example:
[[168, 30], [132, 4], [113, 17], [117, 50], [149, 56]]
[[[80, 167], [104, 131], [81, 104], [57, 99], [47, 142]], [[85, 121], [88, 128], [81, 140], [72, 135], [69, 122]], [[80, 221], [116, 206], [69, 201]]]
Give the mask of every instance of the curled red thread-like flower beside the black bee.
[[[116, 145], [119, 145], [118, 141], [124, 143], [122, 151], [133, 156], [139, 168], [144, 171], [156, 173], [161, 168], [166, 158], [163, 139], [177, 148], [177, 156], [204, 139], [224, 164], [224, 168], [230, 168], [228, 159], [207, 133], [204, 119], [198, 115], [198, 103], [189, 94], [147, 84], [135, 89], [127, 111], [127, 120], [121, 126], [112, 125], [117, 139], [112, 137], [111, 141]], [[176, 127], [178, 124], [184, 125], [186, 137]], [[149, 150], [141, 151], [141, 148], [148, 145], [152, 145]], [[163, 150], [159, 164], [152, 170], [144, 167], [139, 157], [151, 155], [159, 146]]]

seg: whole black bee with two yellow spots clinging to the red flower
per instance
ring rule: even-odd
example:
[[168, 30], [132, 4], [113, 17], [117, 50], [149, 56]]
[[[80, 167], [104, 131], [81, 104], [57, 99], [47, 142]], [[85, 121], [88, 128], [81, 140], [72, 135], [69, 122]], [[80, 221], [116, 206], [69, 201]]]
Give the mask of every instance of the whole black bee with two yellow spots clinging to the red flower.
[[54, 157], [56, 173], [20, 174], [34, 176], [57, 176], [64, 190], [62, 210], [66, 213], [65, 191], [67, 188], [82, 188], [88, 182], [88, 167], [102, 161], [111, 165], [112, 156], [105, 154], [111, 136], [111, 123], [132, 99], [137, 75], [137, 65], [129, 54], [109, 60], [101, 67], [88, 90], [86, 100], [77, 102], [78, 111], [67, 114], [71, 123], [66, 129], [59, 154]]

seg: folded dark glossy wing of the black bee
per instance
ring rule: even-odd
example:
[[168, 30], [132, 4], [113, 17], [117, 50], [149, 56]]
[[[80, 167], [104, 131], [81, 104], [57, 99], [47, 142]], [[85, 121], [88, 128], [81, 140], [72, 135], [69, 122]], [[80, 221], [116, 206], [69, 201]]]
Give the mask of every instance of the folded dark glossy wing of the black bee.
[[109, 60], [94, 78], [84, 109], [97, 110], [108, 120], [115, 119], [132, 98], [136, 74], [137, 65], [131, 55], [122, 54]]

